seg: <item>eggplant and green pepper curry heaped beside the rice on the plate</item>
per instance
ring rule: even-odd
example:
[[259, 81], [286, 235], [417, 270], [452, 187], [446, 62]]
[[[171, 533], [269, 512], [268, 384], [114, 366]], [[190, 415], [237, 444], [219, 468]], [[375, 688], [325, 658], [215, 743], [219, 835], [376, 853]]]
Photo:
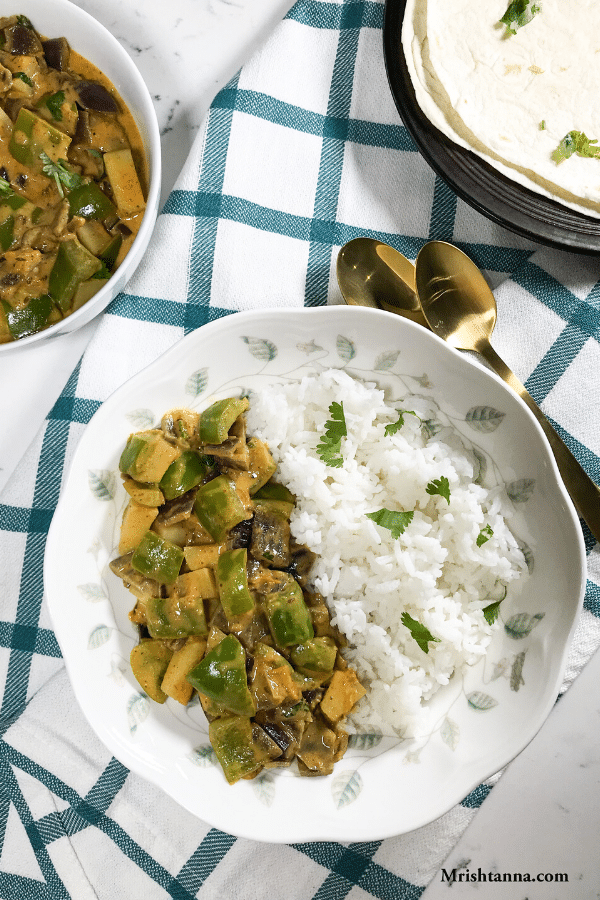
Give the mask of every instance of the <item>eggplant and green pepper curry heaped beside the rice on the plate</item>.
[[227, 398], [174, 410], [130, 435], [110, 563], [136, 598], [135, 677], [158, 703], [198, 695], [230, 784], [294, 759], [302, 775], [331, 773], [366, 693], [309, 587], [315, 556], [291, 535], [295, 498], [247, 436], [247, 408]]

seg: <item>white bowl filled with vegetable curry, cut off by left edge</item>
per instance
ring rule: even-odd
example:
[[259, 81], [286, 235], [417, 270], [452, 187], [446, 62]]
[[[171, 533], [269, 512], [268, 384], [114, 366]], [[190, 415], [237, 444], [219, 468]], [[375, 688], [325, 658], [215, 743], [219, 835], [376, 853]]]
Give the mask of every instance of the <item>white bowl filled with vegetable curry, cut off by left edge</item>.
[[74, 331], [123, 290], [154, 227], [148, 89], [69, 0], [0, 18], [0, 353]]

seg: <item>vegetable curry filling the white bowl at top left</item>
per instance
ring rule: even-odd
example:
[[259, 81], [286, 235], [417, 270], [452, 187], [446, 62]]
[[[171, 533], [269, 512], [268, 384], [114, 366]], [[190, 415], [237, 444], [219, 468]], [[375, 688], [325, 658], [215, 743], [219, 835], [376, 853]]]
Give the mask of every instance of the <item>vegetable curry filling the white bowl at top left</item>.
[[0, 343], [106, 284], [145, 209], [140, 136], [114, 85], [25, 16], [0, 18]]

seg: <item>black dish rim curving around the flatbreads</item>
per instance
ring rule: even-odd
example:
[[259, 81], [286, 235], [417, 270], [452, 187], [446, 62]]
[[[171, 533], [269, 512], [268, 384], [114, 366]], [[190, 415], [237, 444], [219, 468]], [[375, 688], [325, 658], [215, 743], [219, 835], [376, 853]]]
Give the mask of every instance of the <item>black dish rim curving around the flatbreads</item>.
[[469, 206], [529, 240], [576, 253], [600, 252], [600, 219], [527, 190], [450, 141], [422, 113], [402, 49], [406, 0], [386, 0], [383, 52], [400, 117], [431, 168]]

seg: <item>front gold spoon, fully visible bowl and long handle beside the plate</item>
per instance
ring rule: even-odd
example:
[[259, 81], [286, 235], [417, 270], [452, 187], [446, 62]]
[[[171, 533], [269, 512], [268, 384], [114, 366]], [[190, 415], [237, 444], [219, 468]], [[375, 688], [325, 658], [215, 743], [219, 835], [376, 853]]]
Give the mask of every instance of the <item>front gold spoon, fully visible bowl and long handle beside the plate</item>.
[[432, 241], [417, 256], [416, 283], [423, 314], [434, 334], [457, 350], [480, 353], [527, 404], [548, 438], [575, 509], [600, 541], [600, 488], [490, 344], [496, 324], [496, 301], [475, 263], [458, 247]]

